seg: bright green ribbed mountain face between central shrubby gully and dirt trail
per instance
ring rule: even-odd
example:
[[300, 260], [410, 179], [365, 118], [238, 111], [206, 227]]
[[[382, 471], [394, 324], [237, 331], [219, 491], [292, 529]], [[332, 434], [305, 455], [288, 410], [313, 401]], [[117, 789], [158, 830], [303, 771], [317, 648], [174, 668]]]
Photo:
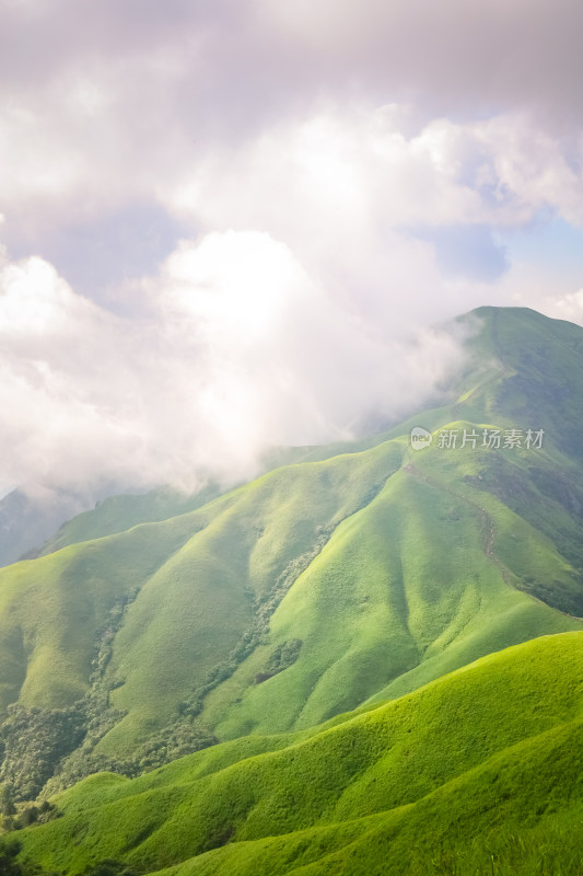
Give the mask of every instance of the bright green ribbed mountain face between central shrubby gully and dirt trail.
[[[553, 545], [491, 496], [476, 495], [463, 476], [454, 489], [446, 457], [422, 460], [431, 461], [432, 480], [403, 470], [390, 477], [337, 528], [276, 611], [269, 644], [301, 638], [296, 662], [253, 684], [265, 661], [254, 654], [210, 694], [203, 714], [221, 738], [310, 726], [510, 644], [581, 629], [516, 589], [547, 570], [565, 588], [579, 587]], [[486, 506], [504, 562], [485, 552]], [[511, 560], [509, 532], [524, 544]]]

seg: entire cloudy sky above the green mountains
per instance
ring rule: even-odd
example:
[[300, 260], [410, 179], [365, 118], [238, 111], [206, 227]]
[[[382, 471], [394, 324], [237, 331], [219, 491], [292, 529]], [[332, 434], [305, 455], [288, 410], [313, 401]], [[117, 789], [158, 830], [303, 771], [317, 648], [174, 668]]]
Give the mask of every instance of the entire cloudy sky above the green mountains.
[[579, 0], [0, 0], [0, 494], [253, 476], [583, 324]]

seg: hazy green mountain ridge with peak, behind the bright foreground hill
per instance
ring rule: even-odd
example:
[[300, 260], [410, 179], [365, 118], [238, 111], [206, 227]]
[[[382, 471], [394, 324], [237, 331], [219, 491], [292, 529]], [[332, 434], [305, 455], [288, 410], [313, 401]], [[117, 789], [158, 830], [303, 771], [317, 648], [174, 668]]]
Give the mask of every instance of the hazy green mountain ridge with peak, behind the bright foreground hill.
[[[63, 530], [77, 543], [0, 570], [0, 779], [34, 796], [55, 770], [53, 789], [137, 774], [581, 630], [583, 330], [513, 309], [466, 320], [442, 407], [200, 507], [156, 498], [173, 515], [158, 522], [116, 531], [153, 499], [109, 500]], [[413, 425], [429, 449], [410, 448]], [[543, 446], [459, 447], [493, 428], [544, 429]]]

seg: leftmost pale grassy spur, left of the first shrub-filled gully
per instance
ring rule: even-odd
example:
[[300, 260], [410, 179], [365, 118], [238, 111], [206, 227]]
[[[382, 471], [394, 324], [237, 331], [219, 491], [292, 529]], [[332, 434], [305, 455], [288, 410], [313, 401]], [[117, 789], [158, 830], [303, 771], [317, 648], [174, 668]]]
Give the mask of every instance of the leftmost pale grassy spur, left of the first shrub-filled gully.
[[115, 600], [142, 586], [188, 534], [185, 521], [144, 526], [2, 569], [3, 708], [16, 699], [62, 707], [82, 695], [96, 631]]

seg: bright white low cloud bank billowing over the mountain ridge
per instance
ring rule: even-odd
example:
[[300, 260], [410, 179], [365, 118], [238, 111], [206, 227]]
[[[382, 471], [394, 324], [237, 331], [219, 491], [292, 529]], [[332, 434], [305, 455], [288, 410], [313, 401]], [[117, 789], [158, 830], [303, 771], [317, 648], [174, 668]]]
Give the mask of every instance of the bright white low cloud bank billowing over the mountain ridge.
[[266, 233], [183, 241], [115, 316], [39, 258], [0, 272], [1, 487], [194, 488], [273, 445], [348, 438], [434, 395], [458, 341], [339, 308]]

